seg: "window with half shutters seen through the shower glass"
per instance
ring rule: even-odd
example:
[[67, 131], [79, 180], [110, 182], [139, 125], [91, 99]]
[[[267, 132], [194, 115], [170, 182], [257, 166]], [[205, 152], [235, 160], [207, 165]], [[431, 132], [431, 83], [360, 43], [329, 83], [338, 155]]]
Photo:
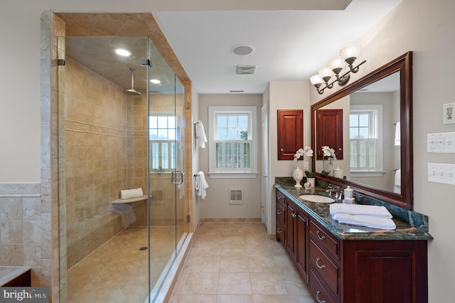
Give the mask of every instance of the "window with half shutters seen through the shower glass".
[[149, 144], [151, 170], [155, 172], [176, 169], [176, 117], [149, 116]]

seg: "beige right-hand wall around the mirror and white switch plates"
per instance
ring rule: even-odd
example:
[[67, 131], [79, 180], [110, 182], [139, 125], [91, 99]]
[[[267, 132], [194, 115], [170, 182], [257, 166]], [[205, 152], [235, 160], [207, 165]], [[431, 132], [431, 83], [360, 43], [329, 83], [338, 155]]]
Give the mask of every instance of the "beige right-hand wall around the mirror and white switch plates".
[[[442, 124], [442, 105], [454, 102], [451, 90], [455, 53], [455, 1], [403, 0], [360, 44], [364, 46], [358, 79], [384, 63], [412, 50], [414, 115], [414, 210], [429, 216], [429, 302], [453, 297], [455, 241], [453, 213], [455, 186], [427, 181], [427, 163], [455, 164], [454, 154], [427, 153], [427, 134], [455, 132]], [[321, 62], [321, 65], [324, 63]], [[431, 75], [431, 76], [429, 76]], [[311, 92], [311, 104], [319, 96]]]

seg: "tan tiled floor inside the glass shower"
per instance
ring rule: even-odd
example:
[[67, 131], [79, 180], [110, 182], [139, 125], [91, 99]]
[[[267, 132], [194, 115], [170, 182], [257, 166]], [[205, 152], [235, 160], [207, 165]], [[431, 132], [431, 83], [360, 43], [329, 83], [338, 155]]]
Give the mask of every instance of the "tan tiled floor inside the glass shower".
[[[183, 233], [182, 228], [178, 228]], [[151, 284], [173, 253], [174, 227], [151, 228]], [[146, 227], [129, 227], [68, 270], [68, 303], [144, 303], [148, 295]]]

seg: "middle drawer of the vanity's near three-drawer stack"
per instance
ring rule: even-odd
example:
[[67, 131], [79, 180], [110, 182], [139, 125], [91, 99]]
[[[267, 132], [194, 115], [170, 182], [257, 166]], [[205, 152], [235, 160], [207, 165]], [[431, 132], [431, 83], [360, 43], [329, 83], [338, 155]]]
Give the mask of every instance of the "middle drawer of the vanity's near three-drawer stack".
[[312, 270], [319, 273], [333, 294], [338, 297], [340, 295], [340, 267], [318, 248], [313, 239], [310, 239], [310, 265]]

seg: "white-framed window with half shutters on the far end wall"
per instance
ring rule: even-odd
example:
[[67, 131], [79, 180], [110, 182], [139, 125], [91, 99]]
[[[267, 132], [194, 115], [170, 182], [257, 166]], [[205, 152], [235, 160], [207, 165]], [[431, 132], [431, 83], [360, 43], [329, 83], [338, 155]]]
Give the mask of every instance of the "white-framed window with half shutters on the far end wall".
[[255, 178], [256, 107], [209, 107], [210, 178]]

